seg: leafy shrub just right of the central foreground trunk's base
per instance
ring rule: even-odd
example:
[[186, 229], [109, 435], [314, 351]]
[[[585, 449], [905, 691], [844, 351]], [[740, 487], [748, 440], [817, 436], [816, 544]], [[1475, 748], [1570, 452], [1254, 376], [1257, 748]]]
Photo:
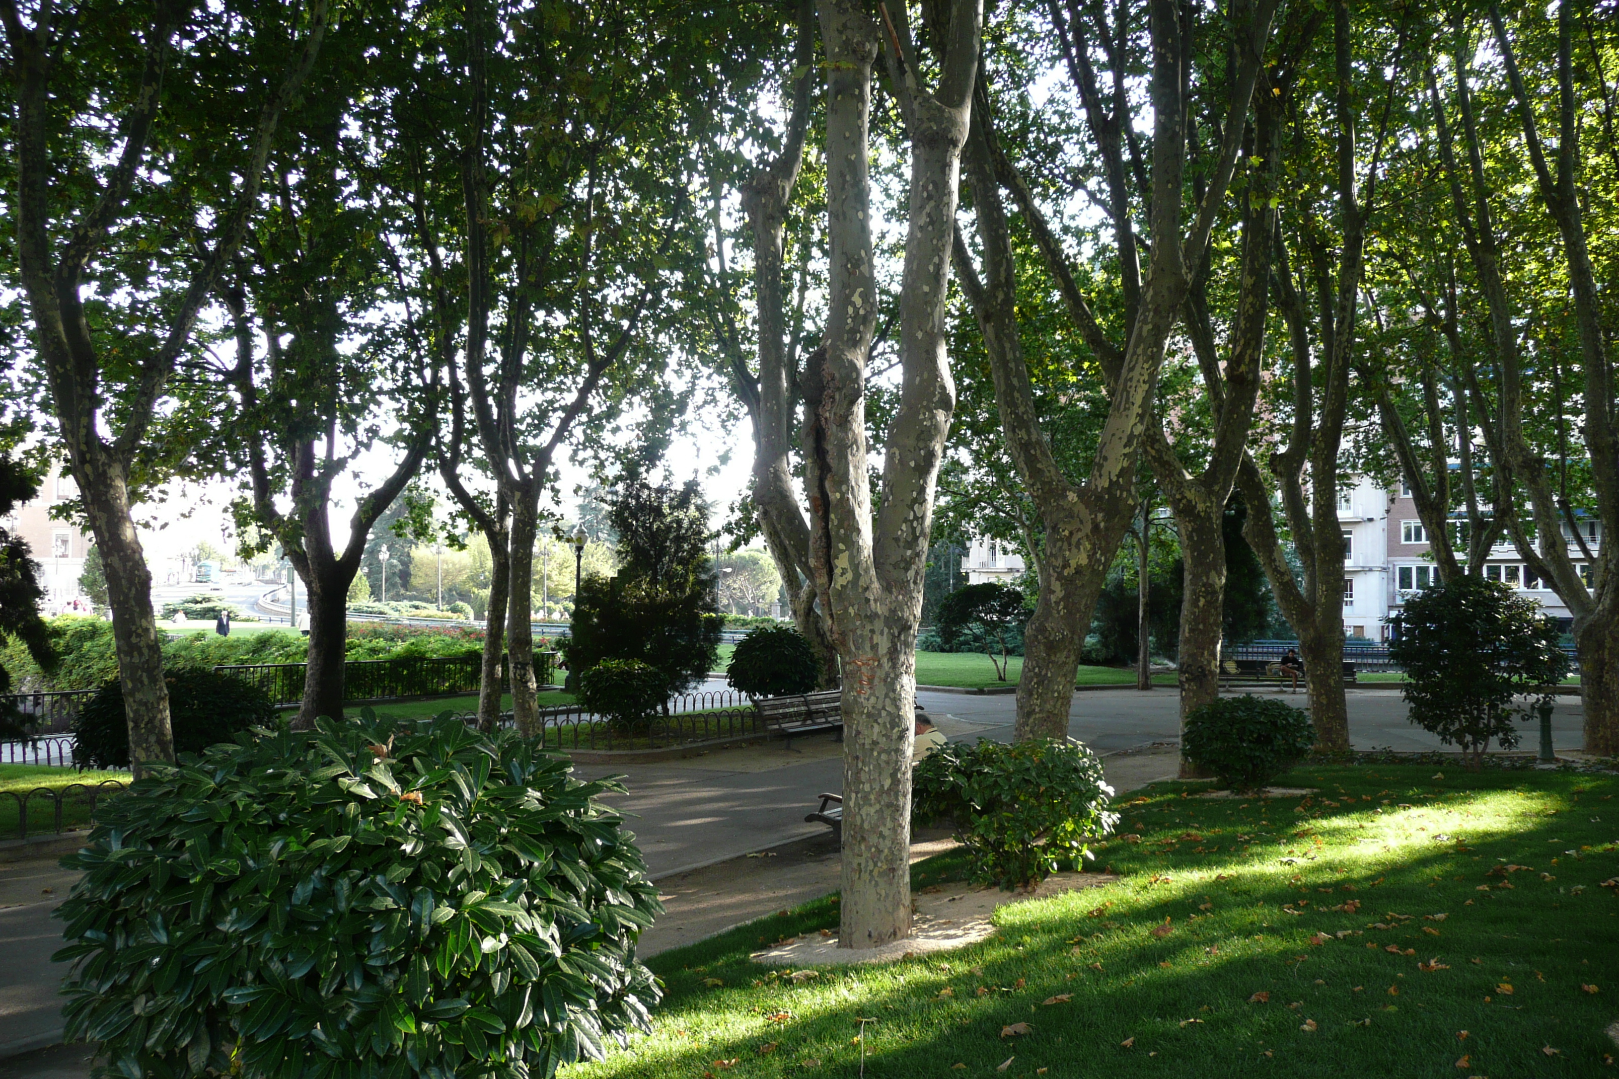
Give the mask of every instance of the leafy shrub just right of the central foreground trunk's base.
[[973, 875], [1002, 888], [1038, 883], [1090, 857], [1112, 831], [1103, 762], [1070, 741], [945, 743], [911, 772], [918, 822], [952, 820]]

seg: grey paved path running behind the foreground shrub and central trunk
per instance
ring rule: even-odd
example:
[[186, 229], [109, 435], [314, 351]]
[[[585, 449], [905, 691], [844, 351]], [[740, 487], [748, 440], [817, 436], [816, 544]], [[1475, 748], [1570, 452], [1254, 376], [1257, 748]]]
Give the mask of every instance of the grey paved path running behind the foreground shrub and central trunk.
[[[724, 688], [717, 683], [709, 688]], [[1303, 694], [1282, 699], [1305, 705]], [[952, 741], [1010, 741], [1017, 702], [1010, 694], [923, 691], [918, 700]], [[1073, 694], [1069, 734], [1103, 754], [1120, 791], [1175, 775], [1179, 694], [1106, 689]], [[1349, 691], [1350, 739], [1357, 749], [1443, 749], [1405, 720], [1397, 691]], [[1579, 749], [1579, 697], [1559, 697], [1553, 717], [1559, 749]], [[1154, 746], [1156, 743], [1156, 746]], [[1538, 744], [1525, 726], [1523, 747]], [[648, 935], [659, 951], [826, 895], [837, 886], [837, 849], [805, 814], [822, 791], [842, 791], [842, 746], [831, 734], [719, 749], [657, 764], [580, 765], [583, 778], [622, 773], [627, 794], [607, 801], [631, 817], [652, 878], [670, 914]], [[916, 857], [942, 836], [918, 836]], [[772, 854], [764, 854], [772, 851]], [[750, 859], [754, 854], [759, 857]], [[60, 924], [50, 911], [73, 874], [53, 861], [0, 864], [0, 1079], [87, 1076], [83, 1048], [50, 1047], [60, 1037], [60, 998], [50, 953]]]

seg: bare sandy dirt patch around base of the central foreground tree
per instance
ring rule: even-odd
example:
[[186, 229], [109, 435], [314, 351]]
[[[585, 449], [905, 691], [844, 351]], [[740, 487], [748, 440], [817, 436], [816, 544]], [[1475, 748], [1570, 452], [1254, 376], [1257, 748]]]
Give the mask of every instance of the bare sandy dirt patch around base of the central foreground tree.
[[992, 932], [996, 909], [1009, 903], [1049, 899], [1065, 891], [1099, 888], [1117, 882], [1114, 874], [1056, 874], [1031, 890], [1001, 891], [973, 885], [933, 885], [911, 898], [911, 937], [879, 948], [839, 948], [837, 933], [821, 930], [819, 937], [795, 937], [764, 951], [753, 953], [754, 963], [784, 967], [850, 966], [892, 963], [933, 951], [950, 951], [976, 945]]

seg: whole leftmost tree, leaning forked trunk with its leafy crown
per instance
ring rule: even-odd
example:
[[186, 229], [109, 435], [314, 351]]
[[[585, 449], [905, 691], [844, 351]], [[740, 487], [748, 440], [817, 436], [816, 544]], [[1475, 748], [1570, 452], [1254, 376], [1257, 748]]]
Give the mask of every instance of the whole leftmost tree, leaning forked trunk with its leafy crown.
[[113, 608], [130, 755], [172, 760], [133, 508], [207, 424], [176, 382], [329, 21], [306, 5], [0, 5], [6, 259]]

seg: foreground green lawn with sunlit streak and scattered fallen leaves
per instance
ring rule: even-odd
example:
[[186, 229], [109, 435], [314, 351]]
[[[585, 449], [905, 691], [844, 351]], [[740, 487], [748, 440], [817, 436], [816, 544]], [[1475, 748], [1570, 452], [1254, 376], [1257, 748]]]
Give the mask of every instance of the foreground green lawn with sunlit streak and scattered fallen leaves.
[[[1284, 783], [1319, 794], [1125, 799], [1140, 841], [1098, 851], [1122, 880], [1004, 908], [947, 956], [801, 982], [748, 959], [834, 927], [835, 898], [656, 956], [652, 1034], [570, 1079], [1619, 1074], [1619, 778], [1446, 764]], [[913, 880], [952, 872], [944, 856]]]

